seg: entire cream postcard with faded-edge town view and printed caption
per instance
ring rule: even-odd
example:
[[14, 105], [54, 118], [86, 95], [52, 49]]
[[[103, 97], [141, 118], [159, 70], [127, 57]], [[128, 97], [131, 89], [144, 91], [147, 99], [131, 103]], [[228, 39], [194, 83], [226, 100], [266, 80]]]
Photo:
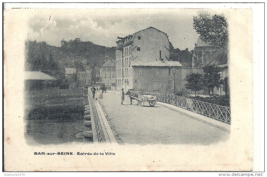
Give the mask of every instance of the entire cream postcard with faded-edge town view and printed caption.
[[253, 170], [252, 9], [49, 4], [3, 4], [3, 171]]

